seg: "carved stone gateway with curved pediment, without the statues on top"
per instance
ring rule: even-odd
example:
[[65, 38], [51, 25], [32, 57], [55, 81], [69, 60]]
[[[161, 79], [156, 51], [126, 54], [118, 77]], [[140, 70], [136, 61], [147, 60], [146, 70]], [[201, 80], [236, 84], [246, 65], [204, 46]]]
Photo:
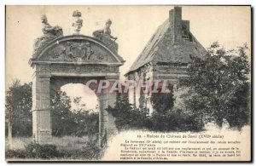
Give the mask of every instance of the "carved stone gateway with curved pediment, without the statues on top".
[[[90, 79], [119, 80], [124, 60], [99, 40], [83, 35], [59, 37], [44, 46], [29, 61], [32, 76], [32, 133], [39, 144], [51, 143], [50, 94], [67, 83], [87, 83]], [[103, 89], [99, 100], [99, 145], [114, 131], [113, 118], [105, 110], [116, 101], [114, 93]], [[111, 122], [111, 123], [110, 123]]]

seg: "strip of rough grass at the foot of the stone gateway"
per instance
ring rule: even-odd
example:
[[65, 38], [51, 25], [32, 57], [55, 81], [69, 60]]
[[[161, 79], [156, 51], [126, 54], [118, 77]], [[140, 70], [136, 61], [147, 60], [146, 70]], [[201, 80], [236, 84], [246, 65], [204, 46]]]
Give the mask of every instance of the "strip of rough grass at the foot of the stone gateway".
[[[96, 137], [90, 139], [86, 136], [53, 137], [50, 144], [53, 146], [40, 146], [32, 143], [32, 137], [15, 137], [13, 148], [11, 150], [6, 148], [6, 159], [95, 160], [102, 157], [102, 149], [97, 146]], [[7, 145], [8, 141], [6, 147]]]

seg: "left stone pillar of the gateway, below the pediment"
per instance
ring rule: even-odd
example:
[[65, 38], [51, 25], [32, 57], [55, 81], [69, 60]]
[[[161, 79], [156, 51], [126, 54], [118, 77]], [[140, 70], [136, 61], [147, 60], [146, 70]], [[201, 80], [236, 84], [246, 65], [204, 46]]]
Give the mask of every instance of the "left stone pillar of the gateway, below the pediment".
[[35, 72], [32, 78], [32, 133], [38, 144], [51, 143], [49, 72]]

